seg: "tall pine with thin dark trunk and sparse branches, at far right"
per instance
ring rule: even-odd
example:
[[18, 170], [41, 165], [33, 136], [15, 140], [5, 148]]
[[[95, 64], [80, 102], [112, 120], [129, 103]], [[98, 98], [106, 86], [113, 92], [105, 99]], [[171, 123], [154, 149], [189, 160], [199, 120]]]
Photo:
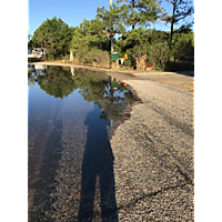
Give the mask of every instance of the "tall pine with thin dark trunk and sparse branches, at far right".
[[194, 12], [193, 6], [189, 6], [192, 2], [186, 0], [165, 0], [173, 7], [173, 14], [169, 16], [168, 13], [163, 13], [162, 20], [171, 24], [171, 34], [169, 49], [171, 49], [172, 38], [175, 32], [185, 32], [192, 24], [192, 22], [188, 22], [182, 24], [178, 30], [173, 29], [174, 24], [178, 24], [180, 20], [185, 19], [188, 16], [191, 16]]

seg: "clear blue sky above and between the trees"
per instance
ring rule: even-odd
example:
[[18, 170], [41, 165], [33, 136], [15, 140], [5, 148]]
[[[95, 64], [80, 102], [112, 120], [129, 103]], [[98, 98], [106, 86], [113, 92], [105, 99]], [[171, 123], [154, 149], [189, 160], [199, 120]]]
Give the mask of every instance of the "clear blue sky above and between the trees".
[[[193, 0], [192, 0], [193, 1]], [[112, 0], [117, 3], [117, 0]], [[60, 18], [69, 27], [79, 27], [84, 19], [95, 18], [97, 8], [110, 8], [110, 0], [28, 0], [28, 31], [31, 36], [47, 20], [53, 17]], [[161, 7], [172, 14], [172, 6], [162, 0]], [[186, 18], [192, 21], [193, 16]], [[150, 28], [161, 31], [170, 31], [165, 22], [158, 22]], [[175, 27], [176, 28], [176, 27]]]

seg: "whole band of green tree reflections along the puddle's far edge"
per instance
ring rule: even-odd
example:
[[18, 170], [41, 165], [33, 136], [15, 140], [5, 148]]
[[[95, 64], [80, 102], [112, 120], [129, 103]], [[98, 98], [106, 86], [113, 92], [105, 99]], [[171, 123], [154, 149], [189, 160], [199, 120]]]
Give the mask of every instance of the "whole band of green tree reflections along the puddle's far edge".
[[68, 97], [74, 89], [88, 102], [94, 102], [101, 110], [101, 119], [119, 119], [122, 112], [134, 101], [129, 89], [122, 84], [118, 89], [111, 87], [111, 80], [104, 72], [87, 69], [74, 69], [72, 75], [70, 68], [48, 67], [34, 72], [38, 84], [48, 94], [54, 98]]

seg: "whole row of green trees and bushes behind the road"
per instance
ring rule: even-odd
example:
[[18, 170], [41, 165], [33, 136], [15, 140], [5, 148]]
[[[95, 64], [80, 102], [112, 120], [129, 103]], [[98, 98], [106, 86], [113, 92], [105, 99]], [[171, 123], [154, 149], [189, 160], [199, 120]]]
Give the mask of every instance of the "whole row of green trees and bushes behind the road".
[[[28, 47], [44, 48], [49, 60], [69, 59], [72, 51], [74, 63], [105, 68], [110, 64], [109, 54], [118, 51], [119, 57], [128, 53], [127, 67], [144, 69], [149, 62], [153, 69], [162, 69], [170, 58], [175, 61], [194, 57], [193, 21], [174, 29], [194, 12], [191, 2], [165, 1], [172, 6], [172, 14], [165, 13], [158, 0], [118, 0], [110, 9], [98, 8], [94, 19], [84, 19], [75, 28], [57, 17], [47, 19], [34, 31]], [[170, 23], [171, 31], [149, 29], [159, 19]]]

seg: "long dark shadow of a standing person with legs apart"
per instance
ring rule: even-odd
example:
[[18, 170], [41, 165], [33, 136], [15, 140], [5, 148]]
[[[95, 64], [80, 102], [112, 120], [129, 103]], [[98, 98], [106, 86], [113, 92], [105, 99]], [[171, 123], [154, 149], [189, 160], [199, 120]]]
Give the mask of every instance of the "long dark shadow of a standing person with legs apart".
[[98, 214], [93, 212], [97, 178], [100, 184], [102, 221], [118, 221], [113, 154], [107, 131], [110, 122], [100, 118], [100, 114], [101, 110], [95, 105], [84, 121], [89, 128], [82, 161], [79, 221], [92, 221]]

